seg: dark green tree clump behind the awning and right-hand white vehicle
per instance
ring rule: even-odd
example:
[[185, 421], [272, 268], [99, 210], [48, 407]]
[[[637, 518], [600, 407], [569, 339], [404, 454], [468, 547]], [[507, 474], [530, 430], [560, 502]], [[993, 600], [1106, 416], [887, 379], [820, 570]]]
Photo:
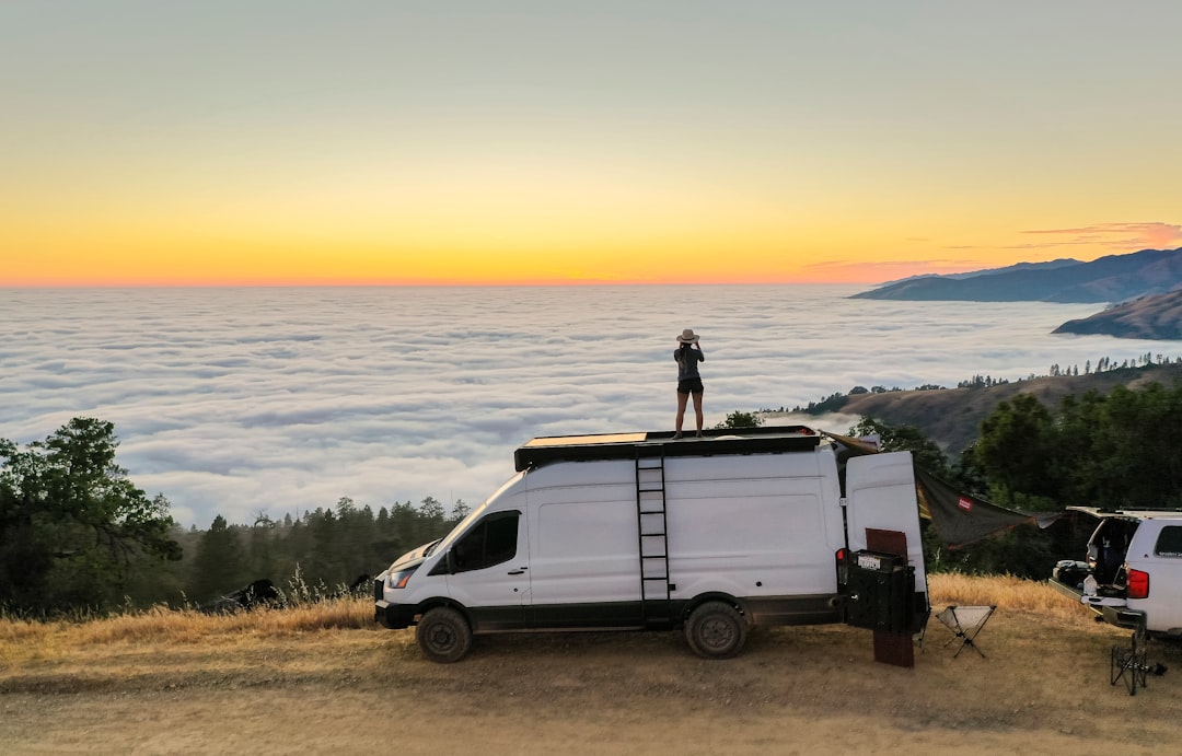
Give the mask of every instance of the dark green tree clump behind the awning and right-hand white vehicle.
[[[989, 481], [991, 498], [1014, 509], [1182, 506], [1182, 387], [1117, 386], [1065, 397], [1053, 411], [1018, 395], [982, 422], [966, 458]], [[955, 566], [1044, 578], [1056, 560], [1082, 553], [1084, 530], [1070, 520], [1019, 528], [957, 552]]]

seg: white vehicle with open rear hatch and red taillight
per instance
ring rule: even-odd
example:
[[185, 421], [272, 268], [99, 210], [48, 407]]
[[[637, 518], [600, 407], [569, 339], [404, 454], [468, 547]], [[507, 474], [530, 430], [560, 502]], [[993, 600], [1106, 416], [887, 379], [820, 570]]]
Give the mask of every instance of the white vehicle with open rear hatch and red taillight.
[[1182, 510], [1067, 509], [1099, 524], [1087, 561], [1060, 561], [1051, 585], [1112, 625], [1182, 636]]

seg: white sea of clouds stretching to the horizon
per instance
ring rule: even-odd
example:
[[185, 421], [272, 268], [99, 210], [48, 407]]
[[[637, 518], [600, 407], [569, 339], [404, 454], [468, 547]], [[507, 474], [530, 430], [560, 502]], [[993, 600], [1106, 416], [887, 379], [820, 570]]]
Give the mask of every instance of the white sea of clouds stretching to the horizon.
[[857, 385], [955, 386], [1182, 353], [1176, 341], [1051, 334], [1096, 305], [847, 299], [857, 291], [0, 291], [0, 437], [25, 444], [73, 417], [110, 421], [131, 481], [206, 528], [217, 514], [251, 523], [344, 496], [375, 511], [427, 496], [474, 506], [534, 436], [671, 430], [686, 327], [702, 337], [708, 426]]

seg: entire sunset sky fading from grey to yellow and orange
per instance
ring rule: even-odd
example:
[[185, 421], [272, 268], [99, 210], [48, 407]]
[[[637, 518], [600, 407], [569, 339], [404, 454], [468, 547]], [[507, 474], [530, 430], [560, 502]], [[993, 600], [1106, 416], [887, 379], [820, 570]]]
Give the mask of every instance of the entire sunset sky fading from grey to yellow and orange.
[[0, 286], [1175, 248], [1180, 30], [1177, 0], [0, 0]]

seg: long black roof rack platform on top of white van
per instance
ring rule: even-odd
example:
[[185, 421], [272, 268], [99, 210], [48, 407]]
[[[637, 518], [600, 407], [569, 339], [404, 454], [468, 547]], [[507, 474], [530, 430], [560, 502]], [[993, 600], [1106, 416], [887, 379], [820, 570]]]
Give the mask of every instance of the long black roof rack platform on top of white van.
[[720, 428], [703, 430], [701, 438], [674, 438], [674, 431], [540, 436], [513, 452], [517, 469], [553, 462], [635, 460], [637, 457], [700, 457], [719, 454], [774, 454], [807, 451], [820, 445], [820, 434], [805, 425]]

